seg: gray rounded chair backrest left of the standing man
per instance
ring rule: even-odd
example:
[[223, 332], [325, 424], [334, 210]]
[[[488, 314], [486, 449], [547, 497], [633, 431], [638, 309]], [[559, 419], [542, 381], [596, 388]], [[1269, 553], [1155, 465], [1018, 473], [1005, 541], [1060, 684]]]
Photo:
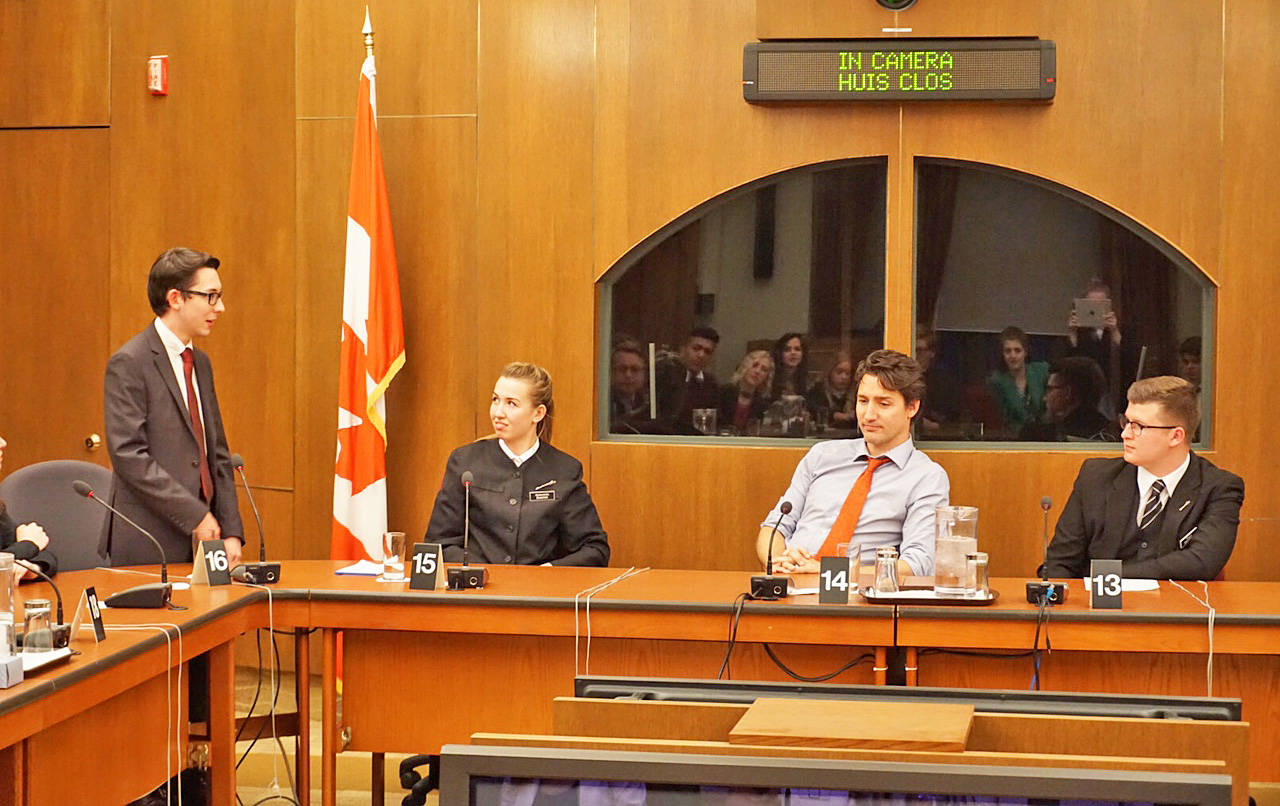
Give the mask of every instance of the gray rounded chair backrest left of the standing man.
[[49, 550], [58, 558], [59, 571], [79, 571], [106, 565], [99, 554], [106, 509], [77, 495], [73, 481], [84, 481], [93, 494], [110, 500], [111, 471], [101, 464], [77, 459], [37, 462], [9, 473], [0, 481], [0, 500], [15, 523], [35, 521], [49, 533]]

